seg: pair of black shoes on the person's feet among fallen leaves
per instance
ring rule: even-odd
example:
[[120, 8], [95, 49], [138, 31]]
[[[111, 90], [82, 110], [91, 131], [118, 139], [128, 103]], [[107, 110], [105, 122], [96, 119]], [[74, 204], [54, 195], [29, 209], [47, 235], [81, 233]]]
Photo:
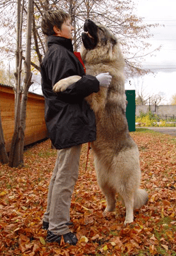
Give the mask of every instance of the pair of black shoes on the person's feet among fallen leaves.
[[[72, 232], [69, 232], [65, 235], [63, 235], [63, 239], [65, 241], [65, 243], [67, 244], [72, 244], [72, 245], [76, 245], [77, 244], [77, 237], [75, 234], [73, 234]], [[47, 242], [49, 243], [61, 243], [61, 236], [55, 235], [53, 234], [51, 231], [47, 230]]]

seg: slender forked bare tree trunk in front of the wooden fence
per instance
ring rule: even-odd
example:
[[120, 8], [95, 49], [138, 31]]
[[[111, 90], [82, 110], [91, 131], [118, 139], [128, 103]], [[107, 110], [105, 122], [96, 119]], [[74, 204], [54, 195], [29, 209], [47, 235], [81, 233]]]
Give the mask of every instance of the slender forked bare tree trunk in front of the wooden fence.
[[28, 21], [26, 35], [26, 58], [24, 61], [25, 77], [21, 84], [22, 71], [22, 17], [24, 12], [24, 0], [17, 1], [17, 51], [16, 51], [16, 86], [15, 92], [15, 129], [10, 148], [9, 165], [12, 167], [23, 164], [24, 130], [26, 128], [26, 104], [28, 90], [31, 85], [31, 24], [33, 18], [33, 0], [28, 1]]

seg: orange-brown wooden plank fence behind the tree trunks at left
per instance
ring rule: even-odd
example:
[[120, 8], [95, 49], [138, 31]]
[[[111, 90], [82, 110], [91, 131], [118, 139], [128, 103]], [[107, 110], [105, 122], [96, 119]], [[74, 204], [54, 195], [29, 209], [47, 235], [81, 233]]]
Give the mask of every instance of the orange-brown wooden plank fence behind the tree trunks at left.
[[[13, 88], [0, 84], [0, 110], [3, 125], [4, 141], [7, 152], [10, 151], [14, 131], [14, 98]], [[24, 145], [29, 145], [47, 138], [47, 129], [44, 119], [45, 100], [42, 95], [28, 93], [26, 111], [26, 130]]]

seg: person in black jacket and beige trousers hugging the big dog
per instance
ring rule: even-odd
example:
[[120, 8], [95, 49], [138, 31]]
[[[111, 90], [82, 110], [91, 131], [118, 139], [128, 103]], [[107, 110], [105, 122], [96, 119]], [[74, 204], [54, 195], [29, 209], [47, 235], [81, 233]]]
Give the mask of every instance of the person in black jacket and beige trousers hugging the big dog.
[[[41, 63], [42, 92], [45, 97], [45, 122], [49, 138], [57, 149], [56, 163], [49, 184], [47, 210], [43, 228], [48, 242], [75, 245], [76, 234], [70, 232], [71, 196], [78, 178], [81, 145], [96, 140], [95, 115], [84, 99], [108, 87], [111, 76], [102, 73], [86, 75], [72, 45], [70, 15], [62, 10], [49, 10], [42, 17], [42, 31], [47, 35], [48, 50]], [[65, 92], [55, 93], [52, 86], [68, 76], [81, 76]]]

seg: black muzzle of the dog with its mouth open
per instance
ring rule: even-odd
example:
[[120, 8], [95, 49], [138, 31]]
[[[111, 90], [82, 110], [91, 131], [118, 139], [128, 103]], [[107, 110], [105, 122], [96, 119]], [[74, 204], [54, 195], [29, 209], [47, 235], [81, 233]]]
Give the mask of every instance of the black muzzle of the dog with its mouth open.
[[82, 40], [86, 49], [94, 49], [98, 42], [97, 25], [90, 19], [84, 22], [84, 32], [82, 33]]

